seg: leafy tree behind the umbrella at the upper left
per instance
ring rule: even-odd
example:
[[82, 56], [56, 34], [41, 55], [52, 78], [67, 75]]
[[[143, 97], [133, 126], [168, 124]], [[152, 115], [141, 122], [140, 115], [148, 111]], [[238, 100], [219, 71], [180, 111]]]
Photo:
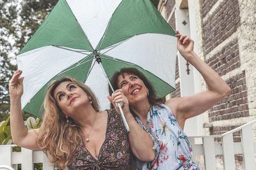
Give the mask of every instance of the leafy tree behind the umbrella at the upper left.
[[[10, 113], [8, 82], [17, 70], [15, 55], [42, 24], [57, 0], [0, 1], [0, 122]], [[29, 115], [24, 113], [24, 120]]]

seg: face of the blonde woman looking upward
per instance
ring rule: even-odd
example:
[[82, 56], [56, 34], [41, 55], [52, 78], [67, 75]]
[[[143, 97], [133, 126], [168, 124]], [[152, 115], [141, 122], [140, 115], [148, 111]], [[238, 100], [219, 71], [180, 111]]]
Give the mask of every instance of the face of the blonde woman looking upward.
[[63, 81], [56, 87], [54, 99], [61, 111], [68, 117], [73, 117], [80, 106], [90, 104], [90, 97], [87, 96], [86, 92], [71, 81]]

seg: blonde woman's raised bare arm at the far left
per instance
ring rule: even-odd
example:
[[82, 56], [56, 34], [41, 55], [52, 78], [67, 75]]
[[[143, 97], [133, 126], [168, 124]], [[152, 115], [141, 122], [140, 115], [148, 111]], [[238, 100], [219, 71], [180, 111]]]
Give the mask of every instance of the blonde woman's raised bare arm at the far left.
[[22, 71], [15, 71], [9, 83], [12, 141], [23, 148], [39, 150], [36, 146], [38, 129], [27, 131], [22, 118], [21, 96], [23, 94], [24, 77], [19, 78], [21, 74]]

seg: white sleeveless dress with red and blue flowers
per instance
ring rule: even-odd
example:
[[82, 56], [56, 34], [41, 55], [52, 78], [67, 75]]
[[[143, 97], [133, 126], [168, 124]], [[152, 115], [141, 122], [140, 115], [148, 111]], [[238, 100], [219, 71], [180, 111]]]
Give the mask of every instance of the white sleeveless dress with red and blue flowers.
[[137, 169], [199, 169], [191, 160], [192, 148], [188, 137], [182, 131], [170, 108], [164, 104], [151, 106], [147, 127], [138, 117], [136, 121], [152, 137], [157, 153], [153, 162], [135, 159]]

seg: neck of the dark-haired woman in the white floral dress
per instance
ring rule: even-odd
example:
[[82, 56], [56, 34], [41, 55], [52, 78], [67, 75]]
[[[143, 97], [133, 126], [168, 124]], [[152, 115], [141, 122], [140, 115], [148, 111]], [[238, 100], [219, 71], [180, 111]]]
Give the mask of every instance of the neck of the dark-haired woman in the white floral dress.
[[150, 104], [148, 99], [143, 102], [138, 102], [131, 106], [131, 110], [140, 118], [143, 124], [147, 123], [148, 111], [150, 109]]

